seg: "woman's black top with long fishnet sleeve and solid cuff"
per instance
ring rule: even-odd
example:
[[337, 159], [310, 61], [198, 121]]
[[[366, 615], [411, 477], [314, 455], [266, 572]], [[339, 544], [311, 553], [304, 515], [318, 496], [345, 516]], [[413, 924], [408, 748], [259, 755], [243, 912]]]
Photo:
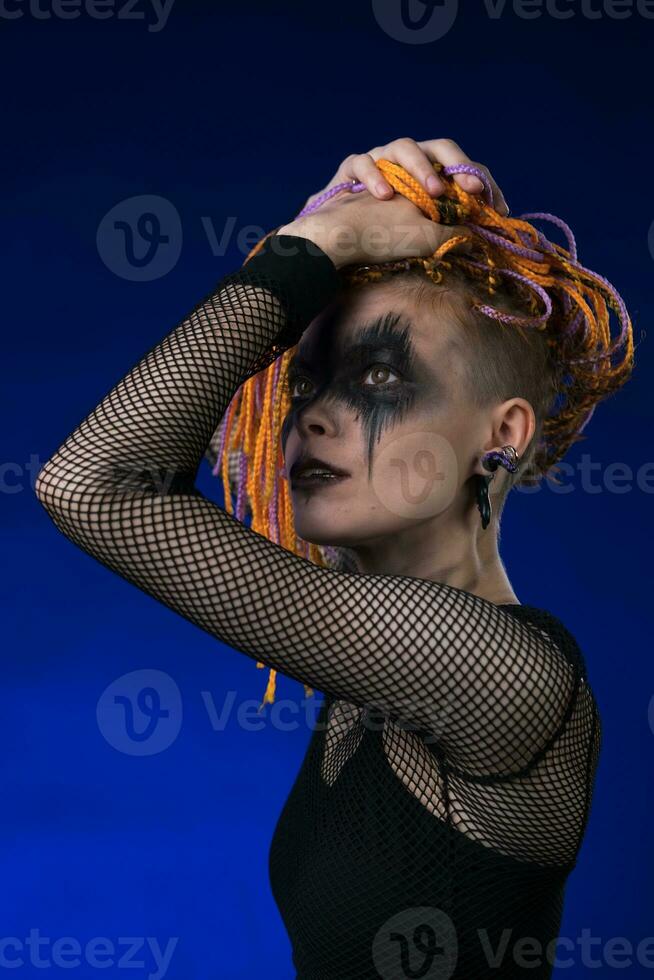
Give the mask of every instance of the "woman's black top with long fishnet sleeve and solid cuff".
[[325, 694], [270, 850], [301, 980], [549, 977], [601, 738], [574, 637], [543, 609], [319, 567], [194, 485], [238, 387], [342, 286], [277, 241], [116, 384], [37, 495], [104, 565]]

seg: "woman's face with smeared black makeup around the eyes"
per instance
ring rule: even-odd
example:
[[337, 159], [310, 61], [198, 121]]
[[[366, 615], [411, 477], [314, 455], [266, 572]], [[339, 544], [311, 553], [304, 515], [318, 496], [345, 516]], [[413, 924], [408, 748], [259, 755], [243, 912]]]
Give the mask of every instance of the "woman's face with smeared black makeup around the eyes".
[[374, 284], [343, 294], [302, 335], [289, 371], [285, 472], [315, 456], [349, 474], [312, 487], [290, 479], [304, 540], [371, 543], [462, 506], [488, 433], [471, 404], [463, 327], [447, 309]]

